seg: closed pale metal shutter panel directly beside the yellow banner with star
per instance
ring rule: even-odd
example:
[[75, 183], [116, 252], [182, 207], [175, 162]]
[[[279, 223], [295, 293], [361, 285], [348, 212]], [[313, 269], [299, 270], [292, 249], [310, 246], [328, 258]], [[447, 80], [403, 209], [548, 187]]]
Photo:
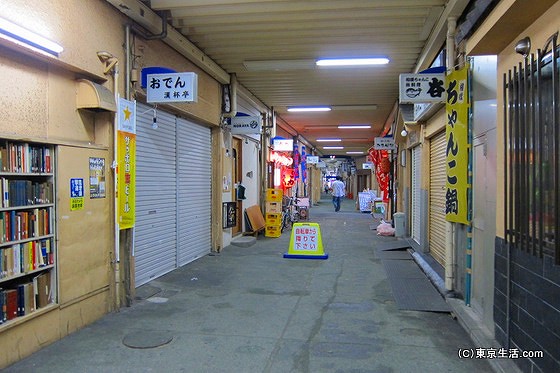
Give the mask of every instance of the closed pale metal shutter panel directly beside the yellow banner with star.
[[176, 268], [175, 117], [138, 104], [136, 134], [136, 286]]

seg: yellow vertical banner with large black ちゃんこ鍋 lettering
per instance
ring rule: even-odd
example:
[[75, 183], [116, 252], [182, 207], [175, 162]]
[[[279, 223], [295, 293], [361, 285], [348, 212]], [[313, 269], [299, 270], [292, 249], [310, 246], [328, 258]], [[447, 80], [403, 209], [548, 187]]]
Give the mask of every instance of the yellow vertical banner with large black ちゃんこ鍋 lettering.
[[468, 224], [469, 166], [469, 66], [447, 75], [447, 123], [445, 126], [447, 181], [446, 220]]

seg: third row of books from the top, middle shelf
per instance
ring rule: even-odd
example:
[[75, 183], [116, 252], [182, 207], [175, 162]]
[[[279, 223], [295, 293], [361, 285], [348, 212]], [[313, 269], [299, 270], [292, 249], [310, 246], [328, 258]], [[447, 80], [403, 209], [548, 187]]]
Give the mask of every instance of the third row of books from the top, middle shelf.
[[51, 234], [51, 207], [0, 212], [0, 243]]

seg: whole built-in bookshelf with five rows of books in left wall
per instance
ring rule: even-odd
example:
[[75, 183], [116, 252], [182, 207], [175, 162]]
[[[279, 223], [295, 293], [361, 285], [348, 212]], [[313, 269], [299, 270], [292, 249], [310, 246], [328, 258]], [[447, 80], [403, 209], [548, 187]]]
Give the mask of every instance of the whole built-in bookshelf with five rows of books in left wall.
[[0, 332], [56, 302], [54, 146], [0, 139]]

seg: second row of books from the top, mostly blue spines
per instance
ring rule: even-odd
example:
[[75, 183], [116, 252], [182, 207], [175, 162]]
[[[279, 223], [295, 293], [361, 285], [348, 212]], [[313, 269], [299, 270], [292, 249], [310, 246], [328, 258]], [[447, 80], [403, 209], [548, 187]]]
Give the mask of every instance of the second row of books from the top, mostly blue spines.
[[51, 181], [10, 180], [1, 178], [2, 207], [39, 205], [53, 201]]

